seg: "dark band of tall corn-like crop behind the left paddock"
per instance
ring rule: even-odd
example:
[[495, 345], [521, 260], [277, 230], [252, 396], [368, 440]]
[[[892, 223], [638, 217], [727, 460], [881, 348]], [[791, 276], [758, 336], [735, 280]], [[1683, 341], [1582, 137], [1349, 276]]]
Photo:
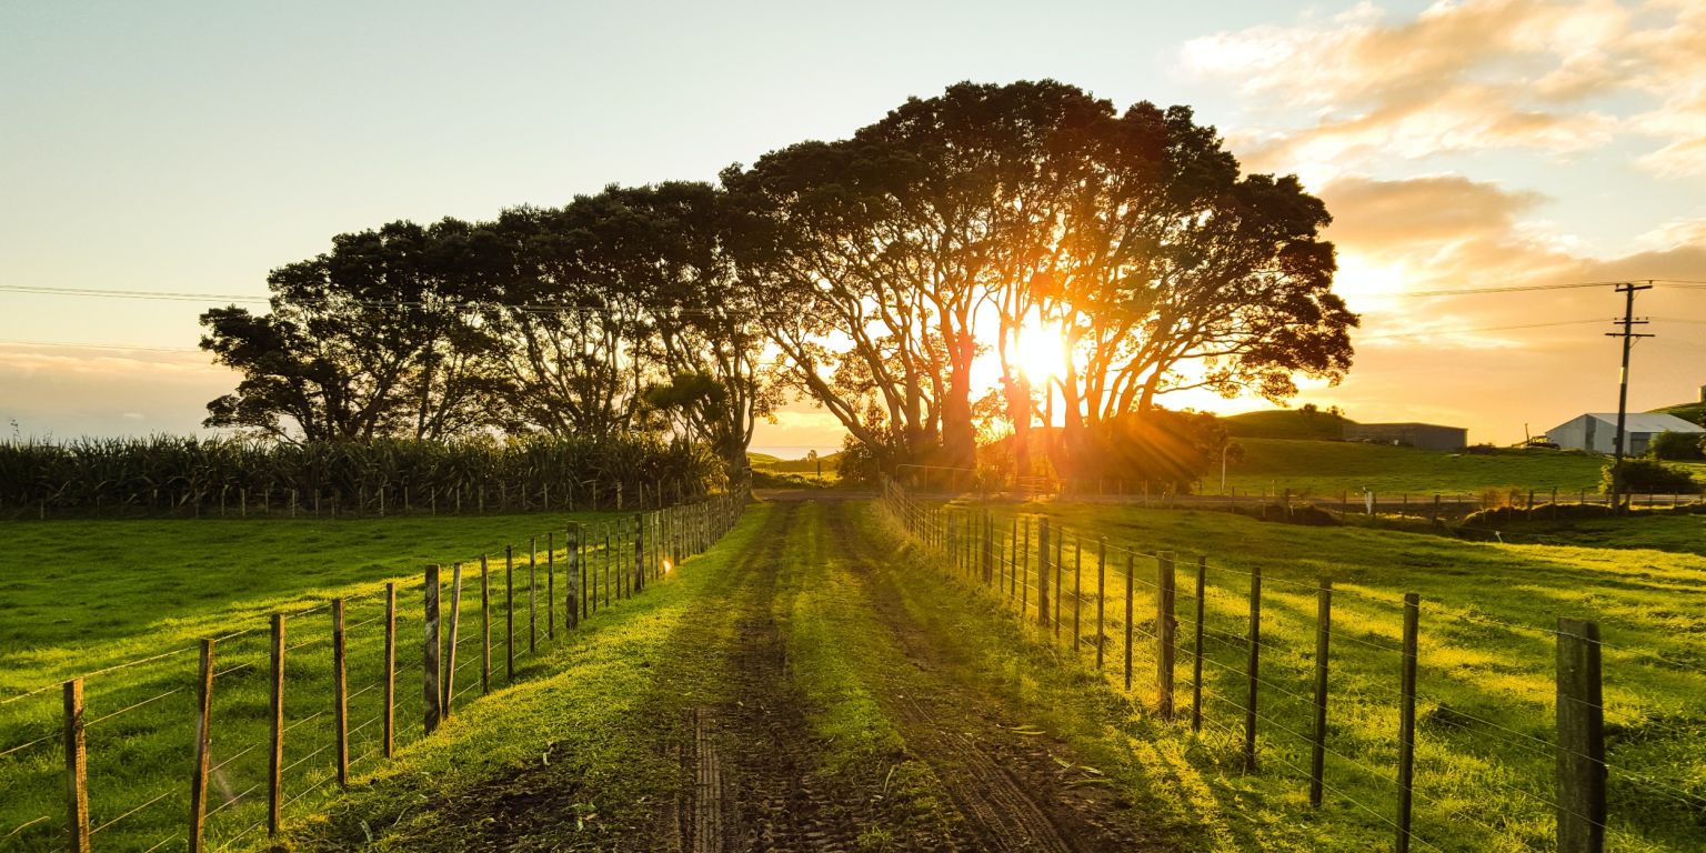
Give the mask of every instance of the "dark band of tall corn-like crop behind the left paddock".
[[0, 444], [0, 517], [645, 508], [722, 478], [713, 454], [650, 437], [14, 440]]

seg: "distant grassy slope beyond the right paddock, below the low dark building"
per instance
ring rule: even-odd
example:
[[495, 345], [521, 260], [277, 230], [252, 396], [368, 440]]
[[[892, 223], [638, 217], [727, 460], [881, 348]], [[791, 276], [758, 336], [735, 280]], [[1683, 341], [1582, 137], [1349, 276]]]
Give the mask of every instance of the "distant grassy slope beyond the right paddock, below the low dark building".
[[[1228, 466], [1227, 486], [1239, 495], [1291, 490], [1297, 498], [1338, 502], [1363, 490], [1382, 496], [1479, 493], [1484, 488], [1534, 488], [1539, 496], [1559, 490], [1559, 500], [1599, 490], [1605, 459], [1573, 450], [1496, 449], [1493, 452], [1442, 452], [1360, 442], [1293, 438], [1240, 438], [1244, 462]], [[1203, 478], [1210, 495], [1220, 488], [1220, 471]]]

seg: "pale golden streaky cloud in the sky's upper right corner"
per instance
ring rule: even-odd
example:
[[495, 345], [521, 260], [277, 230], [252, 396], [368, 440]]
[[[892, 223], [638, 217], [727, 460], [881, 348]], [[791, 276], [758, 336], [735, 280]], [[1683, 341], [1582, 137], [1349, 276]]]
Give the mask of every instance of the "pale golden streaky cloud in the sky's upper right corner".
[[[1389, 22], [1372, 3], [1329, 20], [1189, 41], [1181, 60], [1237, 80], [1278, 126], [1233, 135], [1257, 171], [1326, 179], [1373, 159], [1529, 148], [1556, 157], [1621, 135], [1663, 145], [1658, 174], [1706, 176], [1706, 12], [1612, 0], [1438, 2]], [[1657, 109], [1638, 113], [1639, 102]], [[1297, 126], [1285, 116], [1307, 111]]]

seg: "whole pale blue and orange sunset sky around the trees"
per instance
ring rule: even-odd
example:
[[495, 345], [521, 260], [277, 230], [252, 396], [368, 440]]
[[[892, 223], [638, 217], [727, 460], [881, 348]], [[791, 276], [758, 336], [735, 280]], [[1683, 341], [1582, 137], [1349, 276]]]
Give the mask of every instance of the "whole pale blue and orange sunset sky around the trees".
[[[0, 3], [0, 426], [184, 433], [206, 300], [334, 234], [715, 179], [959, 80], [1189, 104], [1334, 217], [1361, 421], [1513, 442], [1617, 404], [1609, 280], [1706, 281], [1706, 3]], [[160, 299], [17, 288], [142, 290]], [[1629, 404], [1697, 399], [1706, 288], [1638, 297]], [[1223, 413], [1259, 399], [1191, 397]], [[833, 447], [807, 403], [754, 445]]]

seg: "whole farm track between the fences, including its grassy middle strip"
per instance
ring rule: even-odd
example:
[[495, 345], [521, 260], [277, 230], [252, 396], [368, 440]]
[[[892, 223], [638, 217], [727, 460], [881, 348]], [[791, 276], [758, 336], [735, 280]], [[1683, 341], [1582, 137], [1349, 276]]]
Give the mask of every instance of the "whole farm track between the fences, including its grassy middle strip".
[[[699, 575], [681, 589], [698, 587], [636, 655], [645, 689], [619, 694], [631, 711], [594, 739], [604, 754], [541, 761], [430, 797], [426, 814], [411, 812], [375, 844], [1165, 850], [1063, 740], [1027, 725], [976, 677], [979, 664], [955, 635], [988, 628], [945, 630], [921, 609], [920, 568], [897, 560], [870, 503], [807, 491], [749, 512], [751, 536], [682, 566]], [[943, 592], [931, 595], [940, 602]], [[560, 689], [594, 689], [575, 681], [573, 660], [566, 665]], [[365, 836], [372, 821], [362, 821]]]

